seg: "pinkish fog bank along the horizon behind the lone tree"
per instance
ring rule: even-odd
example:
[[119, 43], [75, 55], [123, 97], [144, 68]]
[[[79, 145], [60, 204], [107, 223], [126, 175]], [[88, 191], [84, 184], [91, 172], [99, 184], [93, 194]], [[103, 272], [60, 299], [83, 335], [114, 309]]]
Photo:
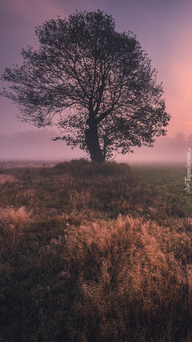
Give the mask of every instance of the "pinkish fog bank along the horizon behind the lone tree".
[[[31, 130], [12, 136], [0, 135], [0, 160], [43, 160], [61, 161], [86, 157], [79, 148], [71, 149], [62, 141], [52, 141], [55, 131]], [[116, 161], [124, 162], [185, 162], [187, 148], [192, 147], [191, 139], [182, 132], [174, 138], [156, 138], [153, 148], [133, 147], [134, 153], [117, 154]]]

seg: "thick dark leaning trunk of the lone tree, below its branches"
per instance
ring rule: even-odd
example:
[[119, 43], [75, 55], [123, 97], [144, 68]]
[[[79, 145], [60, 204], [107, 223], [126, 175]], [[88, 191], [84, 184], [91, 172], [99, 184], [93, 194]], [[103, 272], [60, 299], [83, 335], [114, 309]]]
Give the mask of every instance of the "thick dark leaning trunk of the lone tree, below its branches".
[[86, 144], [89, 150], [91, 161], [97, 163], [104, 163], [105, 157], [102, 154], [99, 145], [99, 136], [97, 126], [90, 127], [85, 130]]

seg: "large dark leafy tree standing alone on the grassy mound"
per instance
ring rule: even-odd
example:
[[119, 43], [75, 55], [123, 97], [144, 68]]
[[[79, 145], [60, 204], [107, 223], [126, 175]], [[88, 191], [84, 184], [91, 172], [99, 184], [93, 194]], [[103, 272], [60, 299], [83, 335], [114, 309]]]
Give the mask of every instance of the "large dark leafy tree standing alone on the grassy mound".
[[111, 15], [76, 11], [35, 32], [38, 51], [23, 49], [23, 65], [1, 78], [13, 83], [1, 94], [17, 104], [19, 120], [56, 124], [65, 135], [54, 140], [79, 146], [96, 162], [166, 135], [162, 84], [136, 36], [116, 32]]

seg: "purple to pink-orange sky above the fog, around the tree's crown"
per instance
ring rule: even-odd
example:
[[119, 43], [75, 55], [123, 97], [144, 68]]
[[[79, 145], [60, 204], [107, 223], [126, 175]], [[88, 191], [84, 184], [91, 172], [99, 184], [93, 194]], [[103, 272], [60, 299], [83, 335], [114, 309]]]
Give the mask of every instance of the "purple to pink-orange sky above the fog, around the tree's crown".
[[[172, 119], [168, 136], [192, 134], [192, 2], [191, 0], [6, 0], [0, 4], [0, 74], [22, 64], [20, 52], [38, 48], [35, 26], [68, 17], [75, 10], [102, 10], [115, 19], [117, 31], [132, 30], [163, 82], [166, 109]], [[17, 108], [0, 98], [0, 134], [31, 130], [18, 122]]]

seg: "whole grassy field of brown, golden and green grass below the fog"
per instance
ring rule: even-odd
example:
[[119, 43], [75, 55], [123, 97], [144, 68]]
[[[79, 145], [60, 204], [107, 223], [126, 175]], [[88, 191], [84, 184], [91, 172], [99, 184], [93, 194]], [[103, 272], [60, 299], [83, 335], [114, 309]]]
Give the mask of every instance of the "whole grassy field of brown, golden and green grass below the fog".
[[1, 165], [1, 342], [191, 342], [185, 166]]

